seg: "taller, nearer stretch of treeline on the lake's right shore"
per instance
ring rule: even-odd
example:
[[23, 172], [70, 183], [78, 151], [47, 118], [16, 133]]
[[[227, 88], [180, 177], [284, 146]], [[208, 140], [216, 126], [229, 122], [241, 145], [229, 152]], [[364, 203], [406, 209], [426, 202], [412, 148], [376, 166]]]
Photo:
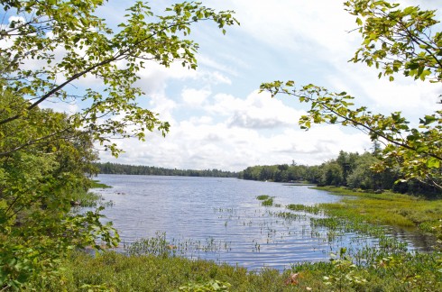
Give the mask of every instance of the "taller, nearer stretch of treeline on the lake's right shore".
[[378, 162], [376, 155], [340, 151], [335, 160], [328, 160], [318, 166], [296, 163], [253, 166], [239, 173], [238, 178], [269, 180], [275, 182], [304, 181], [318, 186], [350, 187], [364, 190], [389, 189], [411, 195], [442, 196], [435, 187], [418, 180], [401, 181], [401, 173], [384, 170], [375, 172], [372, 167]]

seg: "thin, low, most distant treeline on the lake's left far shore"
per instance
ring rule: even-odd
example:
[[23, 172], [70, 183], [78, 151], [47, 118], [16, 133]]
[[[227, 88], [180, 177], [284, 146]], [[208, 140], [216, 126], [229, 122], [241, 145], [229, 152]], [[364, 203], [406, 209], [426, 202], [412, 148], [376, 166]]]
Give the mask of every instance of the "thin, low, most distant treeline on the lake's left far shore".
[[164, 169], [143, 165], [127, 165], [119, 163], [95, 163], [99, 173], [125, 174], [145, 176], [180, 176], [180, 177], [211, 177], [211, 178], [237, 178], [238, 173], [219, 169]]

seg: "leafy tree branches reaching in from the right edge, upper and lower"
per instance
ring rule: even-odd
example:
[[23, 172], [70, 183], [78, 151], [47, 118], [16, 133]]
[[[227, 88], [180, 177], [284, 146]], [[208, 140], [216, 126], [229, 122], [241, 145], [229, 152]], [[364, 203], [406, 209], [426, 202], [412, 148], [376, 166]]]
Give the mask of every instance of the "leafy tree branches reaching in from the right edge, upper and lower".
[[[401, 9], [386, 1], [345, 2], [363, 36], [362, 47], [351, 59], [381, 70], [379, 77], [402, 73], [422, 81], [442, 82], [442, 33], [437, 31], [436, 12], [419, 6]], [[341, 123], [382, 141], [382, 161], [374, 169], [400, 169], [404, 180], [417, 179], [442, 190], [442, 110], [427, 114], [419, 128], [410, 127], [401, 113], [373, 114], [367, 107], [355, 108], [355, 98], [315, 85], [295, 87], [294, 81], [263, 83], [262, 91], [284, 94], [308, 103], [308, 114], [299, 119], [301, 129], [312, 123]]]

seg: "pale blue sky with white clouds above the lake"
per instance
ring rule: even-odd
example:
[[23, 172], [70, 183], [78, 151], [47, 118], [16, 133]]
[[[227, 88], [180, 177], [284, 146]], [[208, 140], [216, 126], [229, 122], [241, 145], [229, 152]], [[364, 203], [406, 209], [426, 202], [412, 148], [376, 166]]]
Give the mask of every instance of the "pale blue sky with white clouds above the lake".
[[[109, 0], [99, 14], [107, 23], [123, 21], [132, 1]], [[403, 2], [403, 1], [402, 1]], [[412, 1], [405, 1], [412, 4]], [[151, 1], [155, 12], [174, 1]], [[396, 76], [377, 78], [378, 71], [348, 62], [361, 43], [355, 17], [343, 1], [329, 0], [202, 0], [208, 7], [234, 10], [239, 26], [223, 35], [215, 25], [193, 27], [199, 44], [198, 69], [180, 64], [163, 68], [149, 64], [140, 72], [140, 100], [171, 125], [147, 140], [119, 140], [124, 153], [116, 160], [100, 152], [102, 162], [149, 165], [171, 169], [240, 171], [254, 165], [316, 165], [339, 151], [370, 151], [372, 142], [355, 129], [313, 125], [299, 129], [306, 106], [290, 96], [259, 93], [262, 82], [294, 80], [356, 96], [357, 105], [373, 112], [401, 111], [410, 122], [440, 108], [442, 87]], [[420, 1], [422, 5], [430, 1]]]

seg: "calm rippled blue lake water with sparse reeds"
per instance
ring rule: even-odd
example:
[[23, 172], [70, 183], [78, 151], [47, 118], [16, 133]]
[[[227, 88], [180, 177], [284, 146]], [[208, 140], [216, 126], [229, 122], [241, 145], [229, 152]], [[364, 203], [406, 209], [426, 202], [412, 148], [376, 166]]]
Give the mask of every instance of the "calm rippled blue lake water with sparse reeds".
[[[103, 214], [114, 223], [124, 245], [165, 233], [186, 257], [247, 269], [286, 269], [299, 261], [328, 260], [329, 253], [340, 247], [376, 245], [376, 239], [355, 233], [327, 238], [327, 230], [310, 226], [313, 214], [296, 213], [296, 220], [276, 215], [288, 212], [289, 204], [341, 199], [308, 186], [236, 178], [99, 175], [98, 179], [112, 186], [96, 192], [113, 202]], [[274, 196], [273, 206], [262, 206], [256, 199], [260, 195]], [[414, 234], [392, 236], [409, 242], [409, 249], [425, 248], [425, 242], [416, 243]]]

